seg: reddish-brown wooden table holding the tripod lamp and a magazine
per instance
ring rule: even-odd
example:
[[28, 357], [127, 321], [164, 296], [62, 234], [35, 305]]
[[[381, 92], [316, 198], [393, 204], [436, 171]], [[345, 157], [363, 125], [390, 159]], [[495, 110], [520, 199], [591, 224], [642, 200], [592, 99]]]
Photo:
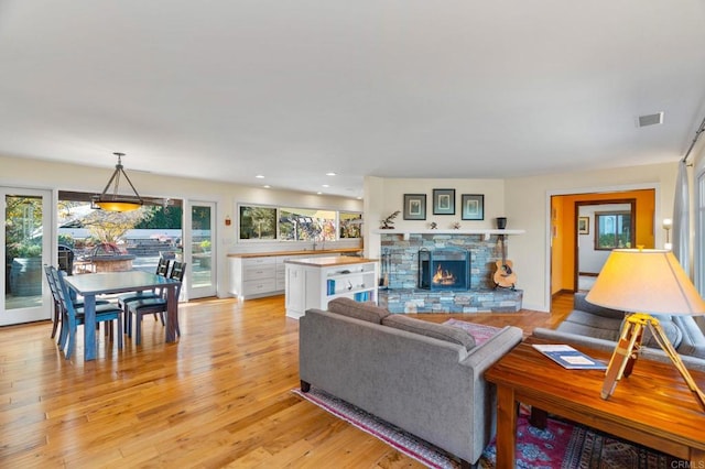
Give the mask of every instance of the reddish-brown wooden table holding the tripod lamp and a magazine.
[[[529, 337], [485, 373], [497, 385], [497, 468], [514, 468], [520, 402], [705, 468], [705, 413], [671, 362], [640, 358], [606, 401], [605, 371], [566, 370], [532, 343], [555, 342]], [[610, 353], [574, 347], [609, 361]], [[705, 373], [692, 374], [705, 388]]]

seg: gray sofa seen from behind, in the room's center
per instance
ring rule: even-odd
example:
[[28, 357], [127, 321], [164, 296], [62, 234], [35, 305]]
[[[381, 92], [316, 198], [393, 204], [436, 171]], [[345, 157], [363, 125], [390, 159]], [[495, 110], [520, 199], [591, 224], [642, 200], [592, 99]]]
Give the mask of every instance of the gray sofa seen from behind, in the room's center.
[[476, 346], [460, 329], [336, 298], [300, 319], [302, 391], [326, 391], [469, 467], [495, 432], [484, 372], [521, 339], [521, 329], [505, 327]]

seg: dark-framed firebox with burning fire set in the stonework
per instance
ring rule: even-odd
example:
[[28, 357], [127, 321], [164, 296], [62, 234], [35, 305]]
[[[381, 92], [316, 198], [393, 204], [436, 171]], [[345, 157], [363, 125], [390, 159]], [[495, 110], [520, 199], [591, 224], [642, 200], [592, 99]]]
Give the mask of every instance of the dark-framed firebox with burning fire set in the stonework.
[[444, 248], [419, 251], [419, 288], [469, 290], [470, 252]]

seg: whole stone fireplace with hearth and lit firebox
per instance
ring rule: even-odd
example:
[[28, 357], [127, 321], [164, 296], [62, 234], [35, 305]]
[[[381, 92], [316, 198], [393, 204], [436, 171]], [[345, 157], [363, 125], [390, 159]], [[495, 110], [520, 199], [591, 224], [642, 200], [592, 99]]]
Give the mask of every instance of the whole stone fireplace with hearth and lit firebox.
[[[379, 303], [391, 313], [513, 313], [521, 309], [521, 290], [495, 285], [496, 262], [501, 260], [497, 233], [382, 232], [380, 242], [383, 285]], [[436, 274], [441, 282], [434, 284]], [[451, 277], [454, 279], [451, 281]]]

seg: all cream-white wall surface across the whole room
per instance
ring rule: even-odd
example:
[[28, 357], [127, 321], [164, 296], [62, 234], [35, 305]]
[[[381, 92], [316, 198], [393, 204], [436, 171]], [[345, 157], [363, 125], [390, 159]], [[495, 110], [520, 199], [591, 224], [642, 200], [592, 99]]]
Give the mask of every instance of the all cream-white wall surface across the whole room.
[[[677, 161], [668, 164], [644, 165], [614, 171], [595, 171], [554, 174], [511, 179], [401, 179], [368, 176], [365, 178], [364, 204], [339, 197], [322, 197], [301, 193], [281, 192], [259, 187], [237, 186], [197, 178], [175, 178], [145, 173], [130, 173], [130, 178], [141, 193], [150, 196], [173, 196], [192, 200], [213, 200], [218, 204], [218, 260], [220, 275], [218, 291], [227, 292], [226, 259], [223, 253], [243, 249], [262, 250], [262, 244], [239, 243], [236, 240], [238, 203], [258, 203], [301, 207], [364, 210], [365, 252], [370, 258], [379, 257], [379, 236], [372, 231], [380, 220], [394, 210], [401, 210], [404, 194], [426, 194], [426, 220], [403, 220], [400, 215], [394, 226], [399, 229], [425, 229], [431, 221], [447, 228], [459, 221], [464, 228], [494, 228], [496, 217], [508, 217], [508, 228], [523, 229], [524, 234], [514, 236], [508, 243], [508, 257], [513, 261], [518, 274], [518, 287], [524, 291], [525, 308], [549, 310], [550, 253], [549, 212], [550, 196], [558, 194], [594, 193], [631, 188], [657, 188], [655, 219], [672, 218], [673, 193]], [[35, 160], [0, 156], [0, 184], [20, 187], [53, 188], [64, 190], [100, 192], [110, 177], [111, 168], [96, 168], [55, 164]], [[455, 188], [456, 204], [460, 194], [485, 194], [485, 220], [460, 220], [455, 216], [434, 216], [431, 198], [434, 188]], [[357, 207], [357, 208], [355, 208]], [[457, 207], [459, 208], [459, 207]], [[234, 220], [225, 227], [223, 220], [229, 215]], [[657, 232], [657, 246], [663, 243], [662, 233]], [[275, 246], [268, 244], [274, 250]], [[291, 246], [291, 244], [290, 244]]]

